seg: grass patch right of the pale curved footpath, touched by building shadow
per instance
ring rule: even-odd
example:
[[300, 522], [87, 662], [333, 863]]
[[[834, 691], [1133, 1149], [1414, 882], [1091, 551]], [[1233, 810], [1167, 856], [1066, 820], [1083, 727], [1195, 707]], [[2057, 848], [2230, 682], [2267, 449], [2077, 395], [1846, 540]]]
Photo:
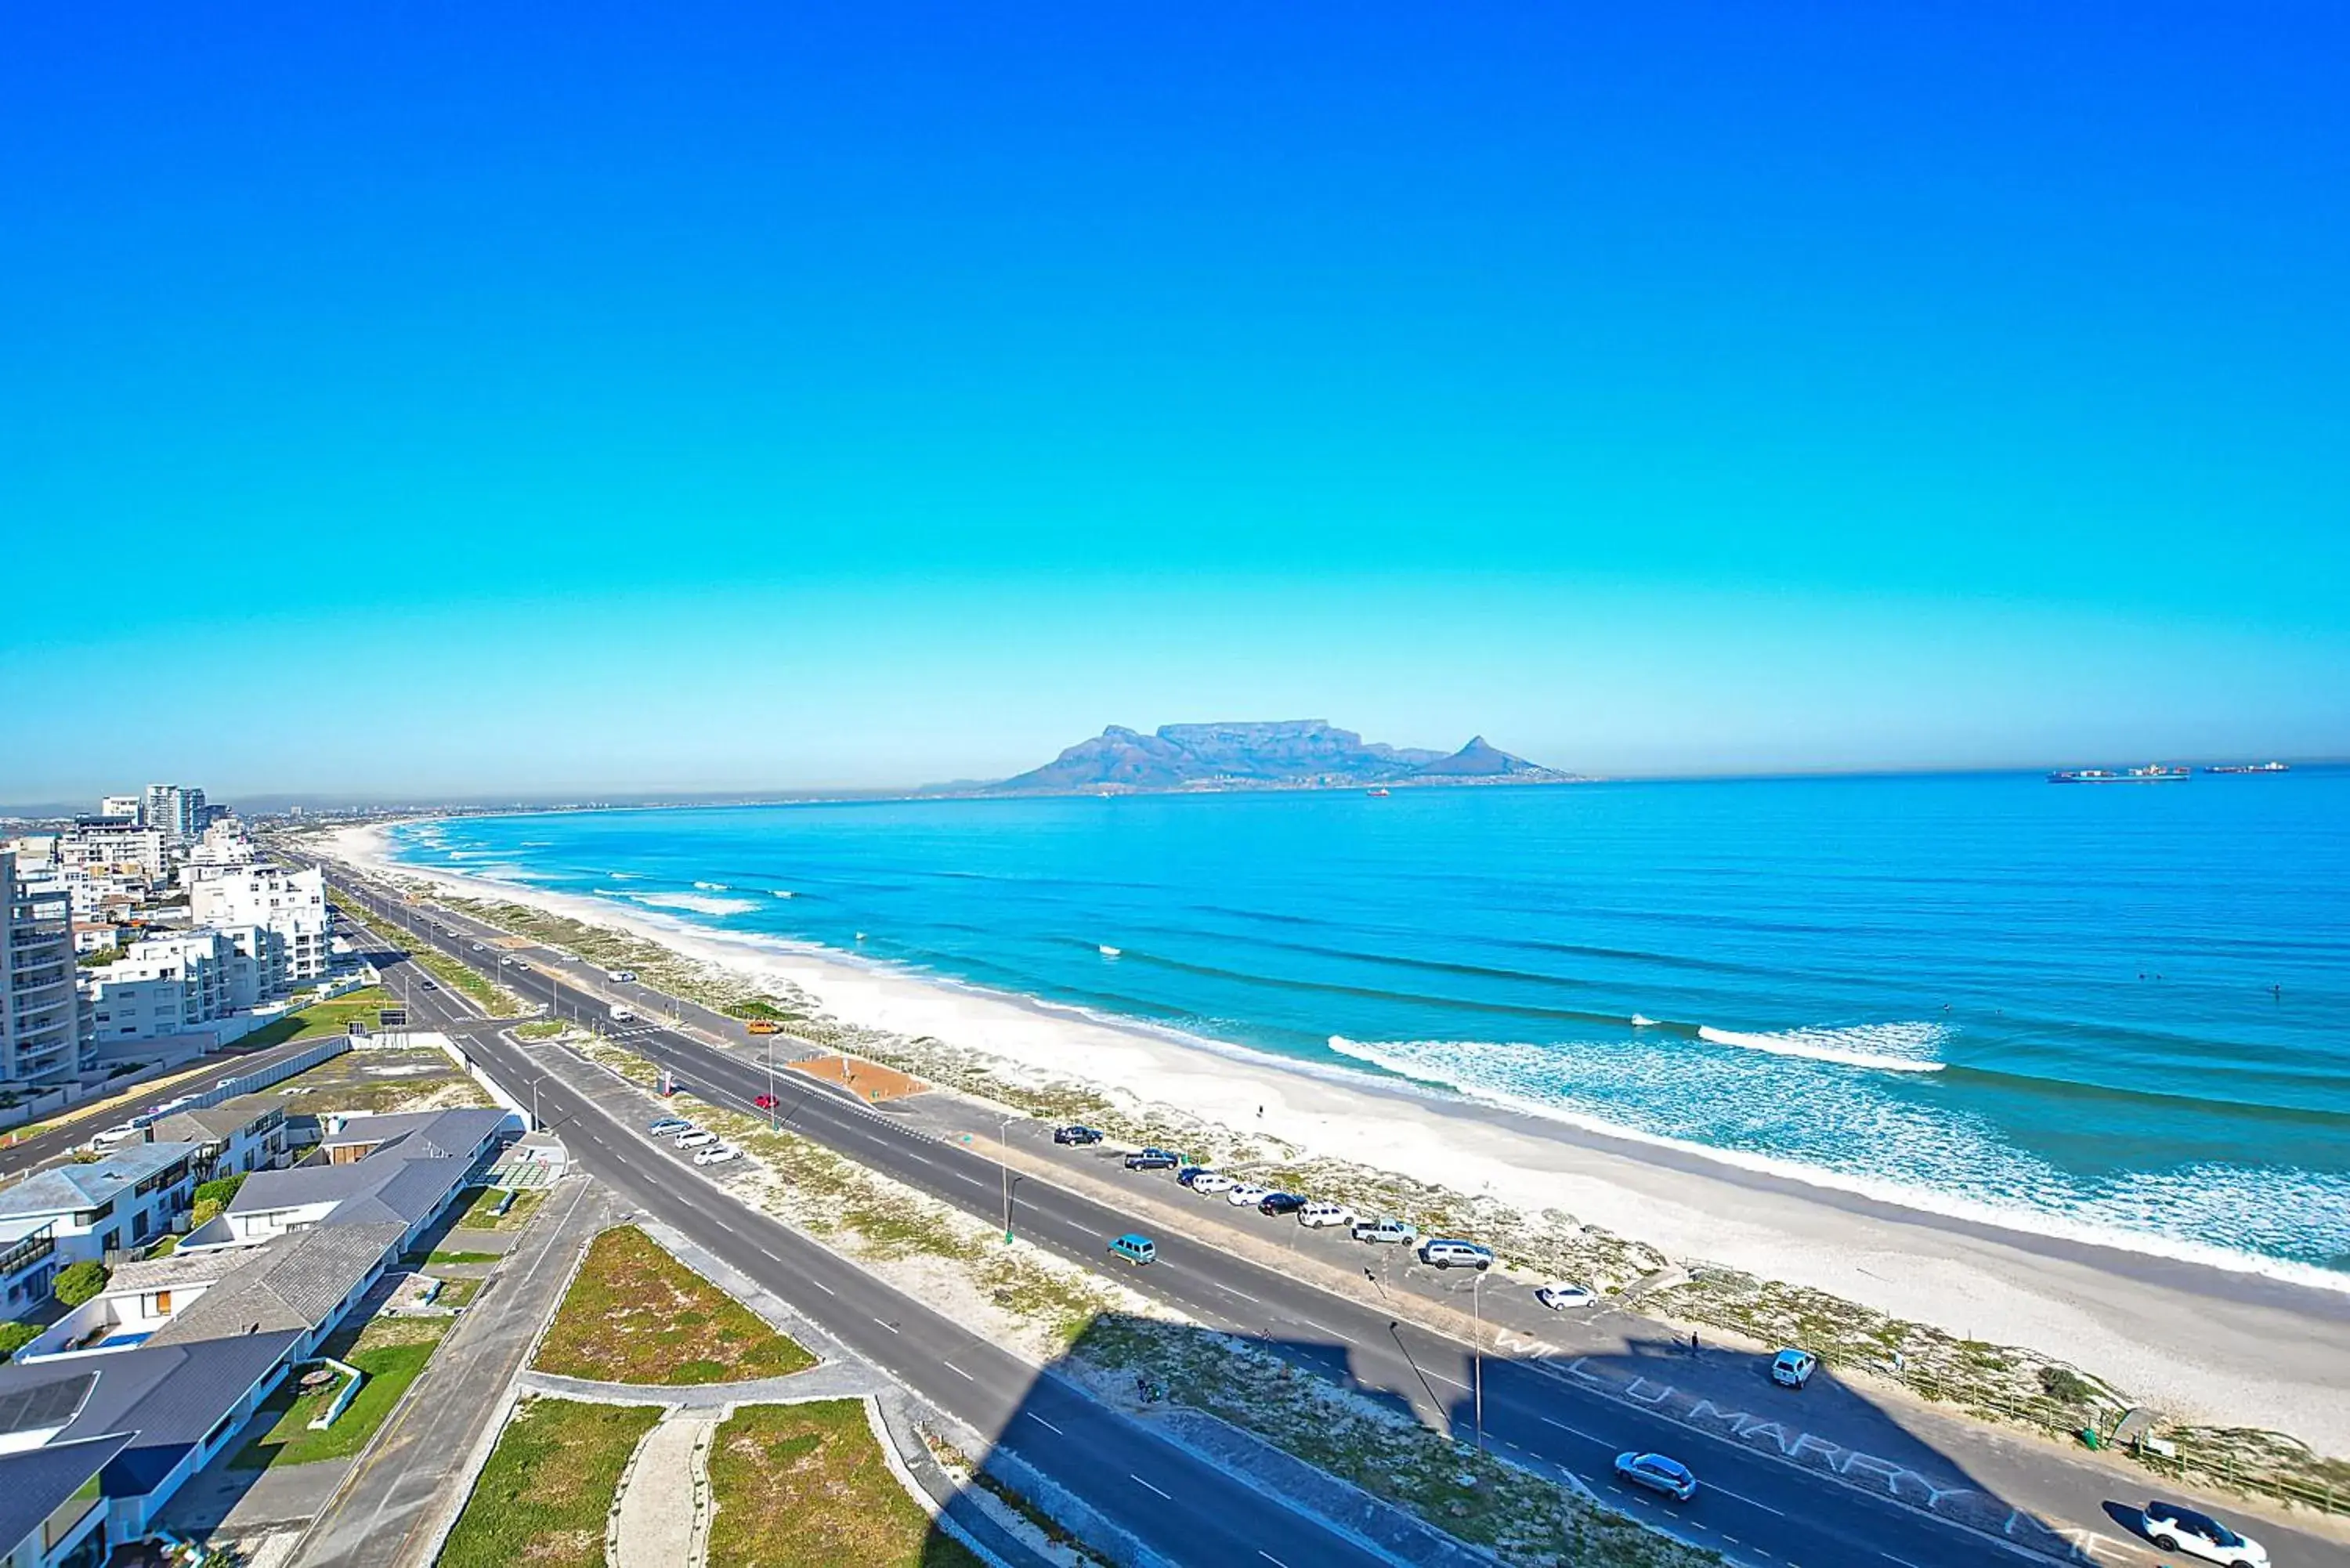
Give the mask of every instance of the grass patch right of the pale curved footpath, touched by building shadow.
[[728, 1568], [975, 1568], [891, 1474], [855, 1399], [743, 1406], [710, 1443], [710, 1561]]

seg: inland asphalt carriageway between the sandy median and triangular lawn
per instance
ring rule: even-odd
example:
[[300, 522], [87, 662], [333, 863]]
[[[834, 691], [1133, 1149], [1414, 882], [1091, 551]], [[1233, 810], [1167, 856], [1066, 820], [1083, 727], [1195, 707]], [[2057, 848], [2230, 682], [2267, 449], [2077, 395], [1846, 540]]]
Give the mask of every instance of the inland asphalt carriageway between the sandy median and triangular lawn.
[[[402, 964], [374, 954], [378, 969]], [[512, 971], [501, 976], [512, 978]], [[421, 992], [414, 1025], [463, 1027], [446, 992]], [[627, 1204], [726, 1258], [855, 1354], [978, 1427], [1175, 1563], [1375, 1568], [1382, 1556], [1050, 1380], [799, 1232], [724, 1197], [665, 1143], [642, 1138], [644, 1100], [604, 1074], [555, 1074], [531, 1051], [475, 1034], [468, 1051], [510, 1091], [536, 1084], [543, 1121]], [[569, 1058], [566, 1058], [569, 1060]]]

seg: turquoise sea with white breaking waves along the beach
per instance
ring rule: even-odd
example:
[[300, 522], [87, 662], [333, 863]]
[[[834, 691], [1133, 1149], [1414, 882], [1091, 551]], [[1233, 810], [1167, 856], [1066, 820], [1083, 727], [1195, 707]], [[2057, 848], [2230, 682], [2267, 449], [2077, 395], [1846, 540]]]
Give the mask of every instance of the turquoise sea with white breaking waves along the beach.
[[2343, 769], [604, 811], [395, 853], [2350, 1274]]

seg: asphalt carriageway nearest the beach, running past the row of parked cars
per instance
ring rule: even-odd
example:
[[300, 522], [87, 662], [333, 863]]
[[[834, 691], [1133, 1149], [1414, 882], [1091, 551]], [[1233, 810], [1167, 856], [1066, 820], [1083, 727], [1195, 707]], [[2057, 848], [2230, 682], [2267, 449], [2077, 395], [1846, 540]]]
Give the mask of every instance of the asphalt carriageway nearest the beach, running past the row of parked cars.
[[[364, 898], [369, 896], [362, 893]], [[411, 924], [430, 924], [430, 919], [449, 924], [454, 936], [432, 936], [430, 940], [461, 959], [482, 959], [482, 954], [470, 952], [470, 940], [479, 940], [479, 933], [463, 917], [402, 912]], [[503, 969], [498, 978], [524, 994], [555, 999], [555, 987], [536, 971]], [[609, 1023], [604, 1004], [573, 987], [562, 987], [559, 1006], [564, 1016]], [[752, 1110], [752, 1098], [766, 1088], [766, 1074], [757, 1060], [712, 1048], [658, 1023], [632, 1025], [625, 1044], [672, 1065], [696, 1093], [712, 1100], [731, 1100]], [[792, 1093], [790, 1128], [794, 1133], [825, 1143], [971, 1213], [996, 1218], [1001, 1187], [994, 1159], [928, 1138], [895, 1117], [846, 1103], [804, 1081], [804, 1074], [787, 1074], [783, 1081]], [[1163, 1178], [1156, 1180], [1163, 1182]], [[1152, 1229], [1130, 1213], [1032, 1175], [1020, 1178], [1015, 1225], [1029, 1241], [1086, 1267], [1102, 1267], [1104, 1237]], [[1459, 1340], [1391, 1321], [1361, 1300], [1180, 1237], [1161, 1234], [1161, 1262], [1133, 1276], [1121, 1274], [1121, 1279], [1161, 1295], [1203, 1324], [1262, 1335], [1283, 1354], [1321, 1371], [1340, 1371], [1356, 1385], [1410, 1403], [1455, 1432], [1466, 1434], [1473, 1422], [1478, 1371], [1469, 1347]], [[1988, 1521], [2000, 1535], [1986, 1535], [1929, 1516], [1894, 1495], [1873, 1495], [1817, 1469], [1758, 1453], [1730, 1436], [1643, 1410], [1638, 1399], [1638, 1389], [1624, 1399], [1579, 1387], [1549, 1366], [1504, 1356], [1483, 1359], [1483, 1432], [1490, 1443], [1535, 1467], [1556, 1465], [1586, 1476], [1603, 1497], [1633, 1514], [1671, 1514], [1671, 1523], [1692, 1540], [1725, 1544], [1734, 1554], [1765, 1552], [1772, 1561], [1791, 1561], [1798, 1568], [1828, 1563], [1882, 1568], [1887, 1561], [1941, 1568], [1943, 1563], [1981, 1561], [1986, 1549], [2030, 1544], [2040, 1552], [2087, 1547], [2092, 1561], [2138, 1568], [2157, 1561], [2155, 1552], [2134, 1540], [2127, 1521], [2117, 1521], [2108, 1507], [2127, 1497], [2131, 1486], [2148, 1486], [2148, 1479], [2122, 1479], [2094, 1465], [2068, 1465], [2052, 1460], [2044, 1450], [2016, 1446], [2023, 1462], [2005, 1465], [1998, 1481], [1967, 1476], [1981, 1493], [2012, 1505], [2005, 1516], [1993, 1509]], [[1607, 1465], [1622, 1448], [1673, 1453], [1690, 1462], [1706, 1486], [1692, 1505], [1664, 1505], [1645, 1493], [1612, 1490]], [[1920, 1481], [1920, 1486], [1925, 1483]], [[1925, 1497], [1925, 1493], [1911, 1495]], [[1976, 1512], [1976, 1521], [1986, 1521], [1981, 1512]], [[2068, 1540], [2037, 1521], [2077, 1535]], [[2350, 1561], [2350, 1554], [2319, 1535], [2284, 1533], [2270, 1526], [2261, 1526], [2258, 1533], [2268, 1540], [2280, 1568], [2284, 1563]]]

